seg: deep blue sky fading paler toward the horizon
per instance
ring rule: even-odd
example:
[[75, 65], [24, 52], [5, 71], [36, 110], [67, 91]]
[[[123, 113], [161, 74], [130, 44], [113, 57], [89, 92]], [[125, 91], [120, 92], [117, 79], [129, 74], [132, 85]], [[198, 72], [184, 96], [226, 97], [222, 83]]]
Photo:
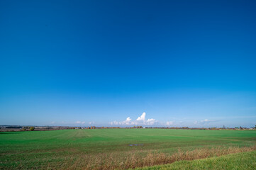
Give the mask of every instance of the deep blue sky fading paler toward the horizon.
[[0, 124], [252, 127], [255, 1], [0, 1]]

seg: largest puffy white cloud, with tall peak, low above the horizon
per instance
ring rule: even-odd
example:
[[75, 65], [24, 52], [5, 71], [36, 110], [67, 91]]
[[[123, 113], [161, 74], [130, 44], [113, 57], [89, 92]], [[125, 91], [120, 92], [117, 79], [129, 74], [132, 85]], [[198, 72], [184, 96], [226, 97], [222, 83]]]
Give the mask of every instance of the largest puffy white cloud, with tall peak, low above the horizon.
[[148, 120], [145, 119], [146, 113], [143, 112], [140, 117], [138, 117], [135, 121], [132, 121], [130, 117], [126, 118], [126, 120], [118, 122], [114, 120], [111, 122], [111, 125], [154, 125], [156, 123], [156, 120], [153, 118], [150, 118]]

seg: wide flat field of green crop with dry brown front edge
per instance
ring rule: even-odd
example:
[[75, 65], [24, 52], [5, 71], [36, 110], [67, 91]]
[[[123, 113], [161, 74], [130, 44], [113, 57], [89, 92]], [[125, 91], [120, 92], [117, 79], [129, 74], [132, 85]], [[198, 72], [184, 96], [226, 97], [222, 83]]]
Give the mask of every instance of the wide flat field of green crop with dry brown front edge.
[[248, 152], [255, 143], [256, 130], [1, 132], [0, 169], [128, 169]]

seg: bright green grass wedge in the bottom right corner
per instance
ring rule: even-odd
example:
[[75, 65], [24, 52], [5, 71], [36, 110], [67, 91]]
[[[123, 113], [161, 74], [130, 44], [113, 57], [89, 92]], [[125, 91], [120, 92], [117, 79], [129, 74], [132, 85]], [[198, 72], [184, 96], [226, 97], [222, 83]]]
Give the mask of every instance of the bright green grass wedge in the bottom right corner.
[[199, 159], [194, 161], [179, 161], [173, 164], [151, 166], [145, 168], [138, 168], [135, 170], [169, 170], [169, 169], [239, 169], [239, 170], [254, 170], [256, 169], [256, 151], [243, 152], [238, 154], [228, 154], [221, 157], [213, 157], [207, 159]]

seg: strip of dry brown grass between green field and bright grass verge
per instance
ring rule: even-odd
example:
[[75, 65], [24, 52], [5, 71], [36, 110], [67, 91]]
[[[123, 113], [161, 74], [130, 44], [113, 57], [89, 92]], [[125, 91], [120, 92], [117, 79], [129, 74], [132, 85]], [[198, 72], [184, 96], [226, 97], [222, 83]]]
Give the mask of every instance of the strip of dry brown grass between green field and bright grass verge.
[[76, 157], [66, 157], [60, 164], [48, 164], [47, 169], [130, 169], [143, 166], [154, 166], [159, 164], [171, 164], [181, 160], [204, 159], [208, 157], [218, 157], [225, 154], [238, 152], [250, 152], [256, 150], [254, 147], [228, 147], [228, 148], [202, 148], [192, 151], [182, 151], [174, 154], [157, 152], [128, 152], [121, 155], [121, 152], [110, 154], [82, 154]]

